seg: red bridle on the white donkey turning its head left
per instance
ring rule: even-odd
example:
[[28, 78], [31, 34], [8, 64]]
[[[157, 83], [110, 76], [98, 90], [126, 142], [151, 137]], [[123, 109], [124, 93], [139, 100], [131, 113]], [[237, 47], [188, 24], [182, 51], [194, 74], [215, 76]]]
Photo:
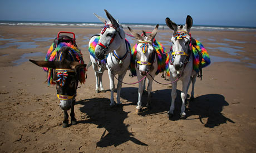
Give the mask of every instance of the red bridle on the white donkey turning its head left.
[[121, 34], [120, 34], [119, 24], [117, 24], [117, 27], [115, 27], [113, 24], [107, 24], [107, 22], [105, 22], [105, 25], [104, 25], [103, 29], [101, 30], [101, 34], [104, 34], [106, 29], [109, 28], [109, 27], [112, 27], [116, 30], [115, 34], [112, 36], [112, 38], [110, 40], [110, 43], [108, 45], [104, 45], [100, 41], [97, 43], [97, 45], [100, 45], [102, 48], [104, 48], [104, 55], [105, 56], [106, 56], [107, 50], [109, 49], [111, 43], [114, 41], [114, 39], [116, 37], [116, 33], [118, 33], [120, 38], [122, 39]]

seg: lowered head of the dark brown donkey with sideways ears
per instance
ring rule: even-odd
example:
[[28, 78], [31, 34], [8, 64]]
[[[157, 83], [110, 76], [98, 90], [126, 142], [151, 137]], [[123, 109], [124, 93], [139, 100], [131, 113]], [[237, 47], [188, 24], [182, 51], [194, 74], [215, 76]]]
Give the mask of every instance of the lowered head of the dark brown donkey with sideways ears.
[[29, 59], [30, 62], [39, 67], [55, 69], [53, 81], [56, 83], [57, 97], [60, 99], [60, 106], [63, 110], [69, 110], [71, 108], [72, 101], [75, 100], [76, 96], [80, 69], [86, 67], [86, 64], [67, 60], [68, 50], [68, 47], [62, 47], [60, 49], [60, 52], [62, 52], [60, 62]]

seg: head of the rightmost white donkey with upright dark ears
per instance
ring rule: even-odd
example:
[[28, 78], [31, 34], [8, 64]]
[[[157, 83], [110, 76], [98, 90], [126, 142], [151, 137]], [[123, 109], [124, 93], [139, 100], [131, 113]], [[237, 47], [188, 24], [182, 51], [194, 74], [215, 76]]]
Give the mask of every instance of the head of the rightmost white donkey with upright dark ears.
[[177, 25], [169, 18], [165, 19], [166, 24], [169, 28], [173, 29], [173, 37], [171, 37], [171, 42], [173, 43], [173, 53], [171, 58], [173, 60], [174, 68], [177, 71], [183, 69], [185, 62], [187, 62], [189, 57], [189, 45], [191, 43], [190, 28], [193, 25], [193, 19], [190, 16], [186, 17], [185, 25]]

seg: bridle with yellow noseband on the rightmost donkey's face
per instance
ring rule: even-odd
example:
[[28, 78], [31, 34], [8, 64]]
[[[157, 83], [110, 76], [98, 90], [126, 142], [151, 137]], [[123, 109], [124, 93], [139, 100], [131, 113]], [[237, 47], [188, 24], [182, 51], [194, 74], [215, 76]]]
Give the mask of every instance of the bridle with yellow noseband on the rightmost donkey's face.
[[170, 52], [171, 52], [171, 60], [170, 60], [170, 64], [173, 65], [174, 63], [174, 59], [173, 59], [173, 55], [183, 55], [183, 56], [186, 56], [186, 59], [185, 59], [185, 64], [189, 62], [189, 58], [190, 58], [190, 53], [191, 53], [191, 34], [186, 32], [186, 31], [177, 31], [176, 33], [173, 34], [173, 37], [174, 38], [177, 38], [178, 40], [180, 39], [183, 39], [186, 37], [186, 35], [190, 36], [189, 38], [189, 48], [188, 48], [188, 54], [185, 53], [184, 51], [182, 50], [178, 50], [176, 52], [173, 52], [173, 46], [171, 46], [171, 49], [170, 49]]

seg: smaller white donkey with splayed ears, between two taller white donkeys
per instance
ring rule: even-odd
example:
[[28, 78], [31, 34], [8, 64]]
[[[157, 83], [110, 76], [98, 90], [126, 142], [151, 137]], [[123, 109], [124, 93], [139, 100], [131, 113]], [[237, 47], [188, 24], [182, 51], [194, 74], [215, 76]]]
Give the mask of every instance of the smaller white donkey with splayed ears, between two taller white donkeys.
[[[135, 70], [137, 79], [141, 80], [142, 78], [147, 75], [148, 84], [147, 84], [147, 108], [151, 108], [151, 90], [152, 90], [152, 81], [155, 77], [156, 70], [157, 70], [157, 62], [156, 62], [156, 50], [152, 43], [154, 43], [154, 38], [157, 33], [158, 24], [156, 25], [155, 29], [152, 33], [147, 37], [146, 33], [143, 31], [143, 36], [134, 32], [130, 27], [127, 27], [134, 38], [137, 39], [137, 53], [136, 53], [136, 63], [135, 63]], [[151, 77], [150, 77], [151, 75]], [[145, 83], [144, 83], [145, 84]], [[139, 82], [139, 89], [138, 89], [138, 103], [136, 107], [136, 111], [139, 112], [141, 110], [141, 97], [145, 86], [142, 86], [142, 81]]]

